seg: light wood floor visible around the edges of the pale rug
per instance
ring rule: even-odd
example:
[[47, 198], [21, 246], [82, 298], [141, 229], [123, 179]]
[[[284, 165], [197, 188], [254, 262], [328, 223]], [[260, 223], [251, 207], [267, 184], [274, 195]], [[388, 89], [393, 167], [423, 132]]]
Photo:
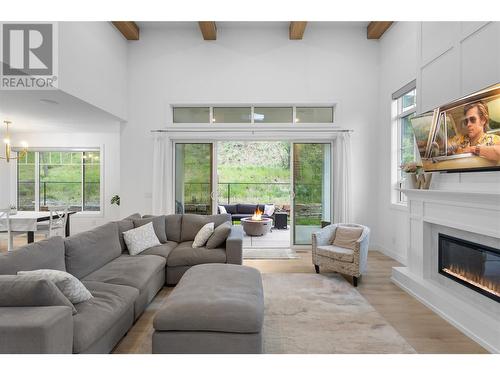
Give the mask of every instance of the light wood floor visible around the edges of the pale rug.
[[[16, 245], [22, 245], [26, 238], [17, 237], [15, 241]], [[2, 241], [0, 252], [5, 250], [5, 241]], [[263, 273], [313, 273], [311, 253], [300, 252], [298, 255], [298, 259], [247, 260], [244, 264]], [[380, 252], [370, 251], [368, 272], [360, 280], [358, 291], [418, 353], [486, 353], [481, 346], [394, 285], [390, 276], [395, 266], [400, 264]], [[151, 335], [154, 315], [171, 289], [164, 288], [155, 297], [115, 348], [115, 353], [144, 352], [144, 349], [149, 349], [138, 346], [144, 345], [145, 335]]]

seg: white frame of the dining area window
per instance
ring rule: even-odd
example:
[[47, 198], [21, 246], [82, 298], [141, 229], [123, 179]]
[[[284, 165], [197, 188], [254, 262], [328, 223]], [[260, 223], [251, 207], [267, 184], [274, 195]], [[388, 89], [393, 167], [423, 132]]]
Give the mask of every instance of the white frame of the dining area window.
[[[19, 152], [20, 150], [15, 148], [13, 149], [14, 152]], [[81, 189], [82, 189], [82, 194], [81, 194], [81, 211], [77, 211], [76, 215], [78, 216], [85, 216], [85, 217], [103, 217], [104, 216], [104, 207], [105, 207], [105, 201], [104, 201], [104, 146], [101, 147], [30, 147], [28, 152], [34, 152], [35, 153], [35, 211], [38, 212], [40, 211], [40, 152], [81, 152], [82, 154], [84, 152], [98, 152], [99, 153], [99, 210], [98, 211], [89, 211], [89, 210], [84, 210], [84, 196], [85, 194], [83, 193], [84, 190], [84, 183], [85, 183], [85, 178], [84, 178], [84, 163], [82, 162], [80, 164], [80, 167], [82, 168], [82, 175], [81, 175]], [[61, 158], [62, 161], [62, 158]], [[12, 176], [15, 176], [11, 181], [13, 182], [11, 187], [12, 187], [12, 194], [11, 194], [11, 201], [16, 202], [16, 207], [19, 204], [19, 196], [18, 196], [18, 163], [14, 163], [14, 168], [12, 169]]]

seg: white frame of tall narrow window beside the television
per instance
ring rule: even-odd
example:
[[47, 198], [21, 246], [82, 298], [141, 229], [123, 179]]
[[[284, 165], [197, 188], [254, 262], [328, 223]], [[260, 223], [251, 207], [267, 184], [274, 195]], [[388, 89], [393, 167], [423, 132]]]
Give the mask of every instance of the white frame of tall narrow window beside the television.
[[[403, 97], [412, 91], [414, 94], [414, 102], [411, 106], [403, 108]], [[415, 81], [405, 85], [392, 95], [391, 101], [391, 121], [392, 121], [392, 147], [391, 147], [391, 205], [394, 208], [406, 209], [408, 202], [405, 194], [401, 191], [403, 188], [403, 176], [401, 171], [401, 157], [403, 151], [402, 145], [402, 124], [403, 119], [417, 113], [417, 88]], [[414, 156], [417, 159], [416, 143], [414, 146]]]

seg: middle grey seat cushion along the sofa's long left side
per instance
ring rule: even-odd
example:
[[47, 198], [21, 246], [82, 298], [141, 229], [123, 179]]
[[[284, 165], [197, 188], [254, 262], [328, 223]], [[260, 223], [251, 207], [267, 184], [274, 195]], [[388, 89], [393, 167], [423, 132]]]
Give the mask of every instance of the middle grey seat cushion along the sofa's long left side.
[[87, 275], [85, 281], [127, 285], [144, 291], [148, 281], [165, 268], [165, 258], [156, 255], [122, 255]]

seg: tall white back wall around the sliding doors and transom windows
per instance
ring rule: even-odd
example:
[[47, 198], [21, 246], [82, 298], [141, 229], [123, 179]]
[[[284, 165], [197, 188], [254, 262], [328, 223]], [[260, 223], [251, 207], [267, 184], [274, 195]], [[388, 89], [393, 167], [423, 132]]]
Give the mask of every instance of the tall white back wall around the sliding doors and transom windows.
[[150, 130], [171, 122], [170, 104], [335, 102], [337, 124], [355, 131], [354, 220], [373, 221], [378, 42], [366, 39], [363, 24], [310, 23], [302, 41], [288, 40], [287, 28], [222, 23], [215, 42], [195, 23], [141, 28], [141, 40], [129, 44], [123, 214], [151, 211]]

